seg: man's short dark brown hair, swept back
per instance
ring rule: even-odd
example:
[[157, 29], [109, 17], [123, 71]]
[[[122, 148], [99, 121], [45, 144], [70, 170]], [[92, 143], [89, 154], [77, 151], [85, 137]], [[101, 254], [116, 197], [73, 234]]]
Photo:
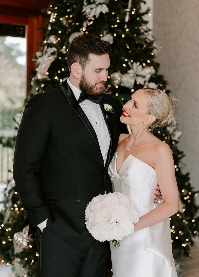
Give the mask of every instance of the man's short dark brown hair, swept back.
[[68, 69], [71, 72], [71, 65], [79, 63], [85, 69], [90, 62], [89, 54], [103, 55], [111, 52], [111, 47], [101, 38], [94, 35], [78, 35], [71, 41], [67, 52]]

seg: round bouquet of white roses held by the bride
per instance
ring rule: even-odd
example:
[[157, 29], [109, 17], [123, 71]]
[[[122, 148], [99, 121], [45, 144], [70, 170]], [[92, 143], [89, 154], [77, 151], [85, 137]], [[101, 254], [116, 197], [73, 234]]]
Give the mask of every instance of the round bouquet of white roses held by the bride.
[[134, 232], [134, 223], [139, 221], [136, 204], [120, 192], [93, 197], [85, 215], [86, 227], [96, 240], [112, 240], [118, 247], [123, 237]]

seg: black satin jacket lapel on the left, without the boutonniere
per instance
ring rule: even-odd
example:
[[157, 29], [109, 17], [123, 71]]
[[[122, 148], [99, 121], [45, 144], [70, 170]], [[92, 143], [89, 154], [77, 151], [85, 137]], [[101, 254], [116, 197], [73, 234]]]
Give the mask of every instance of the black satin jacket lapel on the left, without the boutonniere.
[[72, 108], [74, 109], [74, 111], [77, 113], [77, 115], [79, 116], [79, 118], [81, 119], [81, 121], [84, 123], [84, 125], [87, 127], [87, 129], [89, 130], [91, 136], [93, 137], [93, 139], [95, 140], [99, 151], [101, 153], [100, 150], [100, 146], [99, 146], [99, 142], [97, 139], [97, 135], [95, 133], [95, 130], [93, 129], [92, 124], [90, 123], [90, 121], [88, 120], [86, 114], [84, 113], [84, 111], [82, 110], [82, 108], [80, 107], [80, 105], [77, 103], [77, 100], [71, 90], [71, 88], [69, 87], [68, 83], [63, 82], [60, 85], [60, 88], [62, 90], [62, 92], [64, 93], [65, 97], [67, 98], [68, 102], [71, 104]]

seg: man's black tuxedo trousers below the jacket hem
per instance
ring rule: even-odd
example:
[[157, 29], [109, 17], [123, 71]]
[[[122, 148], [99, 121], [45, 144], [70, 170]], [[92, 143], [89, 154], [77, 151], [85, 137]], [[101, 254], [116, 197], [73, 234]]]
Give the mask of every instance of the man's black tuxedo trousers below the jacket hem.
[[75, 244], [53, 234], [46, 226], [43, 233], [36, 228], [39, 252], [39, 277], [105, 277], [110, 259], [109, 242], [94, 238]]

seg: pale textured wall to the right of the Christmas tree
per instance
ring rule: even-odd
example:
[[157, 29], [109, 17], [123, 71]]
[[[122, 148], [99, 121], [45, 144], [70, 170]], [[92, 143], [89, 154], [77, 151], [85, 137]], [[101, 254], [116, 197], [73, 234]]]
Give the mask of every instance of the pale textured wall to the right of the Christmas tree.
[[[183, 172], [190, 172], [191, 185], [199, 189], [199, 1], [154, 0], [153, 35], [162, 47], [156, 61], [168, 81], [178, 129], [183, 132], [178, 149], [184, 151]], [[199, 204], [199, 196], [196, 198]]]

